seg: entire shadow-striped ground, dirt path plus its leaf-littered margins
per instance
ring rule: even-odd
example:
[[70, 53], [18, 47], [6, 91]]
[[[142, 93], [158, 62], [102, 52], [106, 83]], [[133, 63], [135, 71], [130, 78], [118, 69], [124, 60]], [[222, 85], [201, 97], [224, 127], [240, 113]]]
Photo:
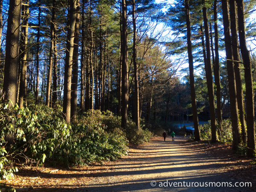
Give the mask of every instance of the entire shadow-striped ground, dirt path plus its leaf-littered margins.
[[[129, 154], [115, 162], [72, 169], [20, 167], [12, 180], [2, 183], [16, 191], [40, 192], [254, 191], [252, 161], [233, 154], [231, 145], [188, 143], [184, 137], [175, 137], [175, 142], [167, 137], [164, 142], [154, 137], [150, 143], [130, 146]], [[244, 182], [251, 186], [235, 186], [247, 185]]]

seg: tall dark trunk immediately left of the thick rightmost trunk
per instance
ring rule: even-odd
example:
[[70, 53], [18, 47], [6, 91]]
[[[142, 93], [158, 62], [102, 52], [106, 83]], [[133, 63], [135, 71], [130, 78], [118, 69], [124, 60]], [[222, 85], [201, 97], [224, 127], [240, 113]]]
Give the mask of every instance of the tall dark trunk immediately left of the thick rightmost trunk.
[[241, 135], [244, 143], [247, 143], [247, 133], [245, 127], [244, 119], [244, 96], [243, 87], [241, 82], [241, 72], [240, 72], [240, 56], [239, 56], [239, 43], [238, 43], [238, 31], [236, 24], [236, 2], [234, 0], [230, 1], [230, 29], [232, 38], [232, 50], [234, 59], [234, 71], [236, 78], [236, 98], [237, 106], [239, 110], [239, 120], [241, 124]]

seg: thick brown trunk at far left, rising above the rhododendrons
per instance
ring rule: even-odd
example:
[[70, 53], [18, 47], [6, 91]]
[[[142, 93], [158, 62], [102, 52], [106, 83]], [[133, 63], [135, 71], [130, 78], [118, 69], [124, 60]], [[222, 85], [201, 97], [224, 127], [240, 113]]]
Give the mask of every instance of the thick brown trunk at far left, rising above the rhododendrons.
[[17, 102], [17, 71], [19, 62], [21, 0], [9, 0], [8, 23], [6, 31], [6, 59], [3, 78], [3, 101]]

